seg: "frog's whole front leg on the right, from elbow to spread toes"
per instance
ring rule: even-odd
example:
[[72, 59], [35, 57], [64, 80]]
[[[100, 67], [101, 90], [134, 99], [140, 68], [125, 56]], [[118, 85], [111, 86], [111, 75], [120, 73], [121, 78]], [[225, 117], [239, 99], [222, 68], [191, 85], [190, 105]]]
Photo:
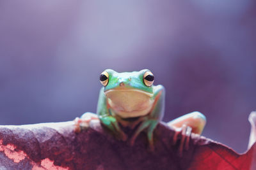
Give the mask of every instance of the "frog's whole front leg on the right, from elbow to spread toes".
[[145, 130], [147, 132], [150, 150], [154, 150], [153, 133], [157, 124], [163, 118], [164, 115], [164, 96], [164, 87], [162, 85], [157, 85], [154, 88], [154, 96], [152, 97], [152, 99], [154, 100], [154, 103], [152, 104], [152, 109], [150, 110], [148, 115], [143, 117], [140, 126], [134, 132], [134, 135], [131, 138], [131, 145], [134, 144], [134, 141], [136, 140], [140, 132]]

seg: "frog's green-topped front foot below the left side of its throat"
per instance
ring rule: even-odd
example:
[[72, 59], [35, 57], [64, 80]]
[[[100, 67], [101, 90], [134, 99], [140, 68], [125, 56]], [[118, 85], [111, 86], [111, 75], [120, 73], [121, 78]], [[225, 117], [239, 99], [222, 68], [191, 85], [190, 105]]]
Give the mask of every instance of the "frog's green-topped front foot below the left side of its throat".
[[115, 117], [100, 117], [100, 122], [113, 132], [118, 139], [121, 139], [122, 141], [127, 140], [127, 135], [122, 131], [122, 129], [120, 129]]

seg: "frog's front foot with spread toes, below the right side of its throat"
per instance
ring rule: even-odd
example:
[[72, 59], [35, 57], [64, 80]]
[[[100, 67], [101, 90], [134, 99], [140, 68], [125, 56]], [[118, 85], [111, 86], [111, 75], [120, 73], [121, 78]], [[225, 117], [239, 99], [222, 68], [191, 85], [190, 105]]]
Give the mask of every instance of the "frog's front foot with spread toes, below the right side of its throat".
[[153, 132], [157, 124], [158, 124], [158, 120], [154, 120], [154, 119], [145, 120], [144, 122], [142, 122], [141, 125], [138, 127], [138, 129], [136, 129], [134, 135], [130, 140], [131, 146], [134, 145], [134, 142], [138, 137], [138, 135], [140, 134], [140, 132], [142, 132], [144, 129], [147, 129], [147, 138], [148, 138], [149, 148], [151, 151], [153, 151], [154, 150]]

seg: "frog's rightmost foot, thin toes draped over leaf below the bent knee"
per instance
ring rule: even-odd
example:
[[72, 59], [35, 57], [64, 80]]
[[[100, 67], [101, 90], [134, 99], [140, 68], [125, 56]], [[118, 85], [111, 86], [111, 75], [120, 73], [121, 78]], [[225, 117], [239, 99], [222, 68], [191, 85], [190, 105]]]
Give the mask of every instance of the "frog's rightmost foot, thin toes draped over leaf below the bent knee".
[[177, 137], [181, 132], [181, 139], [180, 139], [180, 143], [179, 143], [179, 156], [182, 157], [182, 153], [184, 150], [188, 150], [189, 149], [189, 139], [191, 136], [191, 131], [192, 128], [189, 127], [188, 125], [182, 125], [181, 128], [176, 128], [175, 129], [175, 134], [173, 136], [173, 145], [176, 145], [177, 143]]

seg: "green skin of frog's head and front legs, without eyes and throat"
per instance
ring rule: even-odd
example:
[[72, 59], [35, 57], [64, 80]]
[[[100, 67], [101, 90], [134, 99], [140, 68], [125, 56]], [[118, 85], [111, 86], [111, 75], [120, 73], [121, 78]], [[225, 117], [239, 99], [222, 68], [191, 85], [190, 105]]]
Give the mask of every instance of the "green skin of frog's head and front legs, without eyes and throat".
[[[139, 122], [140, 125], [134, 132], [131, 138], [131, 145], [133, 145], [136, 137], [140, 134], [140, 132], [147, 132], [148, 142], [150, 144], [150, 148], [153, 147], [153, 132], [156, 128], [158, 122], [163, 118], [164, 115], [164, 87], [162, 85], [145, 85], [143, 81], [143, 75], [148, 69], [143, 69], [141, 71], [134, 71], [131, 73], [117, 73], [112, 69], [106, 69], [109, 74], [108, 85], [102, 87], [100, 89], [99, 101], [97, 106], [97, 115], [99, 116], [100, 122], [108, 127], [110, 131], [115, 134], [116, 137], [126, 140], [126, 134], [120, 129], [119, 123], [124, 123], [126, 125], [136, 124], [135, 122]], [[108, 90], [117, 90], [120, 88], [122, 84], [122, 88], [124, 89], [134, 89], [141, 90], [143, 92], [148, 92], [148, 94], [152, 94], [150, 97], [150, 101], [152, 101], [152, 105], [150, 105], [151, 109], [148, 111], [146, 115], [140, 116], [137, 118], [135, 122], [127, 121], [127, 117], [122, 117], [122, 115], [116, 115], [115, 109], [111, 108], [108, 103], [108, 97], [105, 92]], [[140, 92], [140, 91], [138, 91]], [[140, 100], [140, 99], [139, 99]]]

